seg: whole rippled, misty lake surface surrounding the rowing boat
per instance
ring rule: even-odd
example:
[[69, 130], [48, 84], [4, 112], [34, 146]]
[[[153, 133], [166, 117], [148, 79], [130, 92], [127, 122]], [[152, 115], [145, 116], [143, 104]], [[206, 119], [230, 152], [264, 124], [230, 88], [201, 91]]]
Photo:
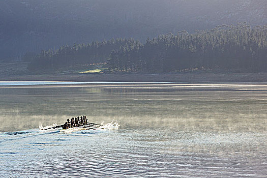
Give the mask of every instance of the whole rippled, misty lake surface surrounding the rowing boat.
[[[267, 175], [267, 83], [0, 85], [1, 177]], [[78, 115], [120, 128], [38, 129]]]

